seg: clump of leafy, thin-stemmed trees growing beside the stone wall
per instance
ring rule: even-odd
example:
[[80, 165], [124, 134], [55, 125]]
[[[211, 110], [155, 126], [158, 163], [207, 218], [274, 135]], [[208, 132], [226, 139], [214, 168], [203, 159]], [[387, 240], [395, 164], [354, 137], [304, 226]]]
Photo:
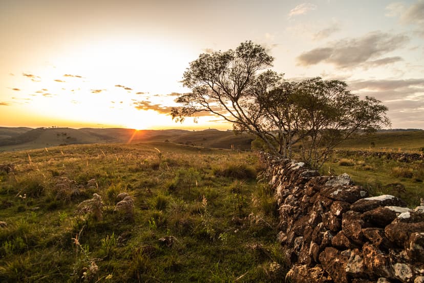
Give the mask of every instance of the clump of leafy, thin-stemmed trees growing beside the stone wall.
[[267, 70], [273, 58], [251, 41], [235, 50], [200, 54], [183, 75], [192, 93], [176, 99], [181, 107], [172, 117], [183, 122], [199, 112], [215, 114], [232, 123], [236, 132], [250, 132], [281, 157], [300, 157], [320, 167], [328, 153], [354, 133], [389, 125], [387, 107], [374, 98], [364, 100], [340, 80], [319, 77], [289, 82]]

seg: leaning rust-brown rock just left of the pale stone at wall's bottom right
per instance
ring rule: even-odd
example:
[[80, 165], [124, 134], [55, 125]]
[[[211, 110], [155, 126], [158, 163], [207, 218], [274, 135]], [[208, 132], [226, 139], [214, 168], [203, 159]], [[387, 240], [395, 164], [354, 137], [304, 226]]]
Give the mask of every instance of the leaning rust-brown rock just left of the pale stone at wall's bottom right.
[[371, 274], [379, 277], [394, 278], [390, 258], [374, 245], [366, 243], [362, 248], [365, 266]]

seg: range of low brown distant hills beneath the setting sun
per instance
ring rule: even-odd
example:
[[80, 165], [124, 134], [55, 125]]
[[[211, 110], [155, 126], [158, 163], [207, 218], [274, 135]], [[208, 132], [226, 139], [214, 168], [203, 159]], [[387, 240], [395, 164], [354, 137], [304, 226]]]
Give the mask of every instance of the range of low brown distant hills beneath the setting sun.
[[140, 130], [110, 128], [0, 128], [0, 151], [36, 149], [72, 144], [143, 143], [166, 141], [211, 148], [248, 150], [250, 135], [231, 131]]

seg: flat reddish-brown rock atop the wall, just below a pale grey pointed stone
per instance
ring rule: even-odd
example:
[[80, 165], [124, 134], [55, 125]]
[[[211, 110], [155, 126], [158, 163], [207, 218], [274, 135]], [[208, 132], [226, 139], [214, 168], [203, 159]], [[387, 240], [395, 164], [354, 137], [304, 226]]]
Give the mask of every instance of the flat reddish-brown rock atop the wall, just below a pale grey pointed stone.
[[321, 194], [334, 200], [354, 203], [356, 200], [368, 196], [368, 192], [361, 186], [327, 186], [321, 190]]

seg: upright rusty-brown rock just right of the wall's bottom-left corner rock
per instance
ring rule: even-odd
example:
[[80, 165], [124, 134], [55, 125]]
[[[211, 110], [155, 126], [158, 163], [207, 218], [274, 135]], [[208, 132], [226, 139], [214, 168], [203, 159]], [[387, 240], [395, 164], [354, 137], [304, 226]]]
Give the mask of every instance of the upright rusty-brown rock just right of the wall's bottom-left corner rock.
[[321, 252], [319, 260], [334, 282], [348, 282], [346, 274], [347, 256], [343, 256], [337, 249], [327, 247]]

